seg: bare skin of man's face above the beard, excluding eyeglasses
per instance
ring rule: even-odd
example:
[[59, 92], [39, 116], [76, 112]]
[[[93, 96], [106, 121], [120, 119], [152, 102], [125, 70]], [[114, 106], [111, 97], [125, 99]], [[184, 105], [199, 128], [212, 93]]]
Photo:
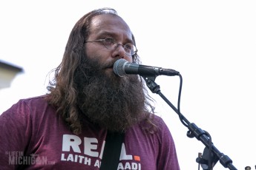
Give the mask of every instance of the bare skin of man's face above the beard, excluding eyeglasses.
[[86, 55], [89, 59], [98, 59], [101, 65], [107, 64], [108, 67], [103, 68], [106, 72], [114, 73], [113, 64], [119, 58], [132, 62], [132, 56], [125, 54], [122, 45], [108, 50], [101, 41], [93, 41], [113, 38], [118, 44], [133, 43], [131, 30], [122, 18], [110, 14], [95, 16], [91, 21], [90, 32], [87, 41], [92, 42], [85, 43]]

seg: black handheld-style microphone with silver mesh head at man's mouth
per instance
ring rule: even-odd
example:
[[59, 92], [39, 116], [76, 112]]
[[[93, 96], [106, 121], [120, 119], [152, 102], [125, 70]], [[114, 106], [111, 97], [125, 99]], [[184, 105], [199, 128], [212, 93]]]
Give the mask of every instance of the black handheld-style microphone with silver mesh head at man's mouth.
[[114, 73], [123, 77], [124, 75], [141, 75], [141, 76], [155, 76], [155, 75], [180, 75], [180, 72], [174, 69], [163, 69], [161, 67], [151, 67], [135, 63], [129, 63], [127, 60], [121, 58], [114, 63]]

